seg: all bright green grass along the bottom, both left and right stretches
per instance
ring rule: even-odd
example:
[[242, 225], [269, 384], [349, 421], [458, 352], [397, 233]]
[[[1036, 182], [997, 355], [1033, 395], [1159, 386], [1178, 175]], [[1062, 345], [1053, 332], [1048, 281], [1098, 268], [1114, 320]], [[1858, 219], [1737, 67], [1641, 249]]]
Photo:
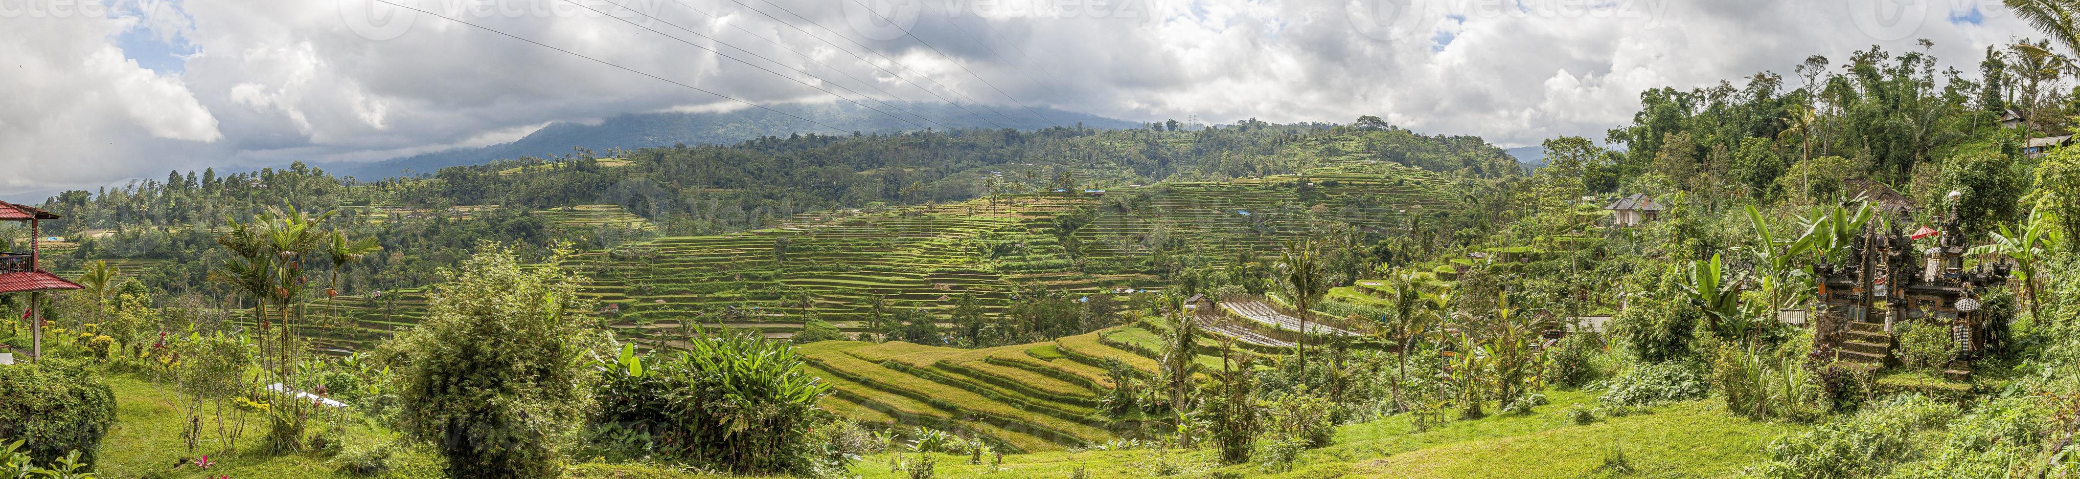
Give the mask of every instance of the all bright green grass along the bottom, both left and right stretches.
[[[102, 477], [168, 477], [202, 479], [229, 475], [233, 479], [270, 477], [352, 477], [339, 473], [329, 458], [306, 454], [266, 454], [264, 421], [248, 419], [237, 454], [216, 456], [210, 469], [175, 467], [189, 460], [181, 440], [181, 413], [171, 394], [133, 375], [106, 375], [116, 392], [119, 427], [102, 444]], [[1631, 475], [1624, 477], [1731, 477], [1741, 467], [1762, 458], [1764, 446], [1799, 425], [1747, 421], [1728, 415], [1718, 400], [1691, 400], [1643, 408], [1627, 417], [1597, 419], [1587, 425], [1566, 423], [1570, 404], [1595, 404], [1593, 394], [1550, 392], [1554, 404], [1533, 415], [1493, 415], [1454, 421], [1429, 431], [1412, 431], [1408, 417], [1387, 417], [1346, 425], [1333, 444], [1308, 450], [1283, 473], [1260, 464], [1219, 467], [1211, 450], [1090, 450], [1011, 454], [998, 471], [988, 464], [967, 464], [965, 456], [938, 456], [936, 477], [1071, 477], [1084, 469], [1088, 477], [1150, 477], [1159, 469], [1179, 471], [1179, 477], [1620, 477], [1600, 471], [1612, 448], [1620, 448]], [[385, 435], [370, 427], [354, 427], [356, 440]], [[214, 450], [214, 429], [206, 433], [204, 450]], [[399, 450], [383, 477], [441, 477], [439, 458], [422, 448]], [[909, 477], [890, 471], [888, 454], [874, 454], [853, 467], [861, 477]], [[691, 477], [684, 473], [622, 467], [578, 464], [566, 477]]]

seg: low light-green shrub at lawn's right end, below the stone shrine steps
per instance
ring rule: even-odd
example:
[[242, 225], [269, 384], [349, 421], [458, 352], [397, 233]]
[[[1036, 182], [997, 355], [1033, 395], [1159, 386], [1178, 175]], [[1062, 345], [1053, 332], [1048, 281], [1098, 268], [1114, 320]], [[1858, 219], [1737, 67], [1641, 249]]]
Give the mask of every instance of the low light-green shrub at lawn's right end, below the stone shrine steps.
[[1899, 396], [1851, 417], [1770, 444], [1758, 477], [1847, 479], [1882, 477], [1916, 460], [1916, 435], [1957, 417], [1957, 406], [1924, 396]]

